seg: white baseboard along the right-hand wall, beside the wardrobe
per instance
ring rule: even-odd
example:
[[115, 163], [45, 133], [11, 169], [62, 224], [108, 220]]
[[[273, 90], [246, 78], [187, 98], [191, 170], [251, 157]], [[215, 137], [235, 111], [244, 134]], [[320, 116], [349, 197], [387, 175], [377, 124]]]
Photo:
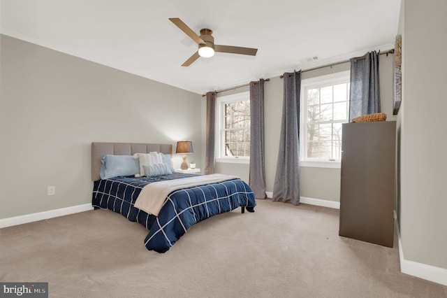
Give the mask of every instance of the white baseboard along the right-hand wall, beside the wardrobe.
[[433, 283], [447, 285], [447, 269], [434, 267], [427, 264], [405, 260], [404, 249], [402, 248], [402, 239], [400, 238], [399, 224], [397, 223], [397, 215], [395, 212], [395, 228], [397, 234], [397, 241], [399, 243], [399, 259], [400, 271], [403, 274], [409, 274], [418, 278], [423, 278]]

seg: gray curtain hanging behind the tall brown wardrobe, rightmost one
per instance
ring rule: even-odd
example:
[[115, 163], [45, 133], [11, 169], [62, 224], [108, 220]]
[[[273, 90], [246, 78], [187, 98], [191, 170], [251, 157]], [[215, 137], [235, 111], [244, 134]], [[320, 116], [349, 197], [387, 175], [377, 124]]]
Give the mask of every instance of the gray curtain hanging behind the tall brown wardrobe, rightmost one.
[[349, 122], [358, 116], [380, 113], [379, 53], [351, 59]]

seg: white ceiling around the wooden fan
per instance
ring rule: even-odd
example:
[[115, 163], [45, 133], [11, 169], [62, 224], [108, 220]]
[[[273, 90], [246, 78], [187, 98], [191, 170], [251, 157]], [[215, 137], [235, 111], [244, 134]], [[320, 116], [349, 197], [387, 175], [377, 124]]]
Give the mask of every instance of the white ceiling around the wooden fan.
[[[400, 13], [400, 0], [0, 1], [2, 34], [199, 94], [389, 50]], [[197, 45], [169, 17], [258, 53], [182, 67]]]

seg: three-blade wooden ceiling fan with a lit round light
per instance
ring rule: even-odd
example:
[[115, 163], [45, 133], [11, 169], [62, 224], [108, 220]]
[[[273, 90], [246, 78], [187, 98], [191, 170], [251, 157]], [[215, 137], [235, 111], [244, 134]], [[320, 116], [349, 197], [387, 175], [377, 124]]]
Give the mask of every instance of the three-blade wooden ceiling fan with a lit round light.
[[229, 52], [232, 54], [241, 54], [241, 55], [251, 55], [256, 56], [256, 52], [258, 49], [255, 48], [242, 48], [242, 47], [234, 47], [231, 45], [214, 45], [214, 37], [212, 36], [211, 29], [201, 29], [200, 36], [198, 36], [191, 28], [189, 28], [182, 20], [178, 17], [172, 17], [169, 19], [173, 22], [180, 30], [184, 31], [184, 33], [191, 37], [193, 41], [196, 41], [198, 44], [198, 51], [195, 52], [189, 59], [187, 59], [182, 66], [189, 66], [194, 61], [198, 59], [198, 57], [212, 57], [214, 52]]

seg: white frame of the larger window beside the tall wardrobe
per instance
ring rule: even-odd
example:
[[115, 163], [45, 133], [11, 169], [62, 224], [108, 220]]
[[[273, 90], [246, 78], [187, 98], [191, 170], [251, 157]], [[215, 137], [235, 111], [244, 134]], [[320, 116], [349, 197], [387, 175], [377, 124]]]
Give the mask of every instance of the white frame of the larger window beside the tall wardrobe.
[[[301, 81], [300, 94], [300, 166], [311, 166], [320, 168], [341, 168], [341, 159], [307, 159], [307, 101], [305, 91], [312, 87], [322, 87], [323, 85], [337, 85], [350, 80], [350, 71], [340, 71], [325, 76], [307, 78]], [[348, 99], [349, 106], [349, 99]], [[348, 108], [349, 111], [349, 108]], [[346, 119], [347, 120], [347, 119]]]

